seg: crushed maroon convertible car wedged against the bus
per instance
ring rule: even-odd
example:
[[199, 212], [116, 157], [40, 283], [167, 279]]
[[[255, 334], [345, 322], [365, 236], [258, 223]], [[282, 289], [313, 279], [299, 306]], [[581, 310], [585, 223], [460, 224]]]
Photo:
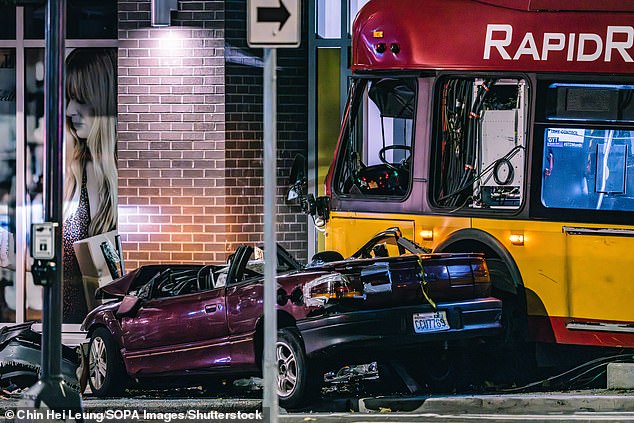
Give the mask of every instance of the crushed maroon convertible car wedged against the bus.
[[[310, 399], [327, 366], [406, 353], [433, 363], [434, 346], [501, 329], [502, 304], [489, 296], [478, 254], [430, 254], [390, 228], [345, 260], [323, 252], [303, 266], [281, 247], [277, 256], [284, 407]], [[104, 304], [82, 325], [92, 392], [260, 374], [262, 257], [241, 246], [225, 265], [148, 265], [100, 288]]]

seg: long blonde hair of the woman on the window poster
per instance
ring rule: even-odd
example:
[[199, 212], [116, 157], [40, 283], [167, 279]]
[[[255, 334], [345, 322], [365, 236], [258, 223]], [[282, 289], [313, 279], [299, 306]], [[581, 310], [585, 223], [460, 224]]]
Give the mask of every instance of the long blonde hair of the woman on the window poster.
[[77, 137], [66, 117], [66, 175], [64, 200], [71, 202], [81, 187], [82, 172], [92, 161], [97, 177], [97, 214], [88, 226], [88, 235], [117, 227], [117, 85], [114, 49], [82, 48], [66, 59], [66, 97], [87, 104], [94, 124], [86, 140]]

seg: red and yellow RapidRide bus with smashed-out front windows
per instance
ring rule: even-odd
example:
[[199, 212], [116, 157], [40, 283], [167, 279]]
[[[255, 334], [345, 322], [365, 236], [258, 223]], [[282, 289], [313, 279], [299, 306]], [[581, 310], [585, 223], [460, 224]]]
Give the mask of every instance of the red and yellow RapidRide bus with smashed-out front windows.
[[634, 1], [370, 0], [325, 248], [486, 255], [507, 328], [634, 347]]

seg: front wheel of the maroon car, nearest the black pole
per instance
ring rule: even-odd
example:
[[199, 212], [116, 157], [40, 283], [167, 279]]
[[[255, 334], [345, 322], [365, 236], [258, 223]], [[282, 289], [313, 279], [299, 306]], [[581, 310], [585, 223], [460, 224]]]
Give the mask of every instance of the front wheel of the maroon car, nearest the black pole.
[[97, 328], [88, 347], [88, 383], [98, 397], [120, 395], [125, 389], [126, 372], [121, 354], [106, 328]]

